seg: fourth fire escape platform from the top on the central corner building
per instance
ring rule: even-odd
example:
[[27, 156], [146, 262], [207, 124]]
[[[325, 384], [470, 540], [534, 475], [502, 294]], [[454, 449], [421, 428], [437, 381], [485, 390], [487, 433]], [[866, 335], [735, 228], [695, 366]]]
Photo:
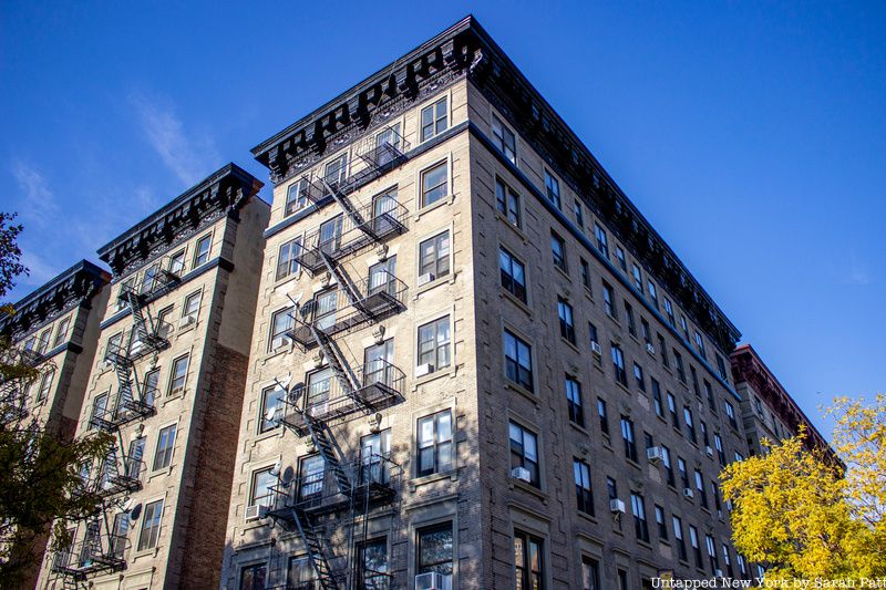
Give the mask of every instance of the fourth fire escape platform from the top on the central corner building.
[[388, 361], [375, 360], [349, 370], [353, 389], [329, 376], [319, 383], [302, 385], [290, 393], [281, 422], [299, 436], [308, 434], [308, 418], [321, 422], [343, 418], [362, 411], [378, 412], [403, 398], [405, 374]]

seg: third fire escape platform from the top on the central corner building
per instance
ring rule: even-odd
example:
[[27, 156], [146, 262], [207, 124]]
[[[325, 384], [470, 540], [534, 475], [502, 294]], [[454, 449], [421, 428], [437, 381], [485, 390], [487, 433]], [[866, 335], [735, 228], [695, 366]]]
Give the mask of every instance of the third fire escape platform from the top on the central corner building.
[[381, 272], [349, 288], [319, 293], [295, 312], [287, 335], [307, 350], [318, 344], [311, 325], [331, 337], [399, 313], [406, 309], [405, 300], [406, 283]]

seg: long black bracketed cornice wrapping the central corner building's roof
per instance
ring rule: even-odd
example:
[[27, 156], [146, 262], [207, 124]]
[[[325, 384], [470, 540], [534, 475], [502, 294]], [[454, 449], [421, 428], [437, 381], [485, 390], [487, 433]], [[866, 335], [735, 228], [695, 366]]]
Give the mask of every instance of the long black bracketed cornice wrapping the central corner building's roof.
[[468, 15], [253, 149], [280, 183], [403, 101], [466, 75], [727, 353], [741, 337], [542, 94]]

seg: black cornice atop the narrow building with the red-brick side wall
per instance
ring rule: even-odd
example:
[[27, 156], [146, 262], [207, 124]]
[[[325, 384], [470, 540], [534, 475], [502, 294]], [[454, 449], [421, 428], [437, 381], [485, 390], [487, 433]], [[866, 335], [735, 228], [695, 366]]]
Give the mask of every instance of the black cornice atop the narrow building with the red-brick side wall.
[[185, 234], [224, 215], [236, 216], [249, 197], [264, 184], [236, 164], [216, 170], [169, 204], [99, 248], [114, 276], [132, 270], [151, 259], [157, 250], [171, 247]]

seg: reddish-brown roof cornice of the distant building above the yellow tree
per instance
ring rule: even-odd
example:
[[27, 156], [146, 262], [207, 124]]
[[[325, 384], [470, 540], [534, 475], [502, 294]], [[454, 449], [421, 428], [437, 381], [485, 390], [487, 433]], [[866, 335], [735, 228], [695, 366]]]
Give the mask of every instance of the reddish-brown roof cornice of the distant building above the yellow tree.
[[[732, 376], [736, 385], [748, 383], [793, 432], [797, 432], [797, 428], [804, 425], [810, 443], [832, 456], [836, 456], [822, 433], [791, 397], [791, 394], [770, 371], [753, 346], [742, 344], [735, 349], [730, 360], [732, 361]], [[751, 402], [751, 400], [748, 401]]]

